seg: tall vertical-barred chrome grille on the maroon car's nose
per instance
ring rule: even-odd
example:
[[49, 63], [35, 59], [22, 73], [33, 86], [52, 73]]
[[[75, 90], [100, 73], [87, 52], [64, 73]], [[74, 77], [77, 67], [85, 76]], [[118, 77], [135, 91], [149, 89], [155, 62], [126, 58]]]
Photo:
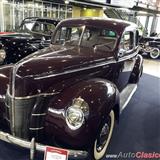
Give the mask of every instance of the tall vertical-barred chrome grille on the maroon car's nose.
[[14, 99], [6, 95], [5, 118], [9, 122], [14, 136], [24, 139], [29, 138], [29, 119], [35, 100], [36, 98]]

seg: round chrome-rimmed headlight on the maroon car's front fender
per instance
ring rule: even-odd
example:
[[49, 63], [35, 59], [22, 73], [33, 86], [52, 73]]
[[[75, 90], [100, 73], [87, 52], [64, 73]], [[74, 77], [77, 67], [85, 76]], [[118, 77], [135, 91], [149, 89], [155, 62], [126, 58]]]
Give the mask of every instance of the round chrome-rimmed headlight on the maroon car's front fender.
[[65, 114], [68, 127], [72, 130], [79, 129], [84, 123], [84, 116], [88, 113], [88, 104], [80, 97], [74, 99]]

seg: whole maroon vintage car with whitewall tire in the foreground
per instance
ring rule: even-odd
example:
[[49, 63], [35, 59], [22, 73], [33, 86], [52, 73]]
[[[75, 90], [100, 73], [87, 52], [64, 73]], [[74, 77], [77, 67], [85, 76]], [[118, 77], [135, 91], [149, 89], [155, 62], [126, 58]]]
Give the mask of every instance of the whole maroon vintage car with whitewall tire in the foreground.
[[[99, 160], [142, 75], [135, 24], [68, 19], [48, 48], [0, 68], [0, 139]], [[30, 142], [31, 141], [31, 142]]]

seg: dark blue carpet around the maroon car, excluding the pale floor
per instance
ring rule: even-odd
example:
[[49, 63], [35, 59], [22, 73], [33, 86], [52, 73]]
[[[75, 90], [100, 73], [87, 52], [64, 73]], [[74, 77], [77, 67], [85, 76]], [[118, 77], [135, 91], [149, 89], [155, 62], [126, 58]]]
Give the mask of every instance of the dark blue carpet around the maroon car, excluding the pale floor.
[[[121, 114], [107, 153], [120, 152], [160, 153], [159, 78], [143, 74], [135, 95]], [[29, 151], [0, 142], [0, 160], [28, 159]], [[43, 160], [43, 155], [38, 155], [36, 160]]]

